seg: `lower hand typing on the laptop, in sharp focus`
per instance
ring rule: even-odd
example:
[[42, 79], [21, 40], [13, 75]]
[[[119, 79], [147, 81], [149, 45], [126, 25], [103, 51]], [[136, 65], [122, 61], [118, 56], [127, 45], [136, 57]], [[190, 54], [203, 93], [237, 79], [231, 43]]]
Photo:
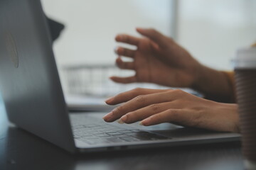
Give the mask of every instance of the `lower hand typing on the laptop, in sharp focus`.
[[[126, 102], [126, 103], [124, 103]], [[107, 99], [107, 104], [124, 103], [103, 118], [106, 122], [149, 126], [159, 123], [239, 132], [237, 104], [208, 101], [181, 90], [134, 89]]]

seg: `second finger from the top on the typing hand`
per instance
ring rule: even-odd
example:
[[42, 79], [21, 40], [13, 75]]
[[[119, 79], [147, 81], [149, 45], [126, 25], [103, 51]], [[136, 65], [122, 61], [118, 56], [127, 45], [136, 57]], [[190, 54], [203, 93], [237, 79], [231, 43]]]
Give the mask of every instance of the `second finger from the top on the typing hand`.
[[125, 115], [126, 113], [136, 111], [139, 108], [144, 108], [145, 106], [149, 106], [156, 102], [163, 103], [166, 101], [169, 101], [169, 94], [167, 93], [139, 95], [108, 113], [105, 116], [105, 120], [107, 122], [112, 122], [121, 118], [122, 115]]

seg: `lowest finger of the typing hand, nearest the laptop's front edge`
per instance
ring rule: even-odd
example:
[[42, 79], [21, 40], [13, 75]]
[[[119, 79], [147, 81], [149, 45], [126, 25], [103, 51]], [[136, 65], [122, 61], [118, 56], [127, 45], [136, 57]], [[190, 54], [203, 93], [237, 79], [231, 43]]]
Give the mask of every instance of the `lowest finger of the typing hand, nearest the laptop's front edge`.
[[168, 109], [161, 113], [151, 115], [149, 118], [146, 118], [140, 122], [140, 125], [149, 126], [149, 125], [157, 125], [160, 123], [170, 123], [176, 122], [183, 124], [183, 120], [188, 120], [186, 118], [186, 111], [182, 109]]

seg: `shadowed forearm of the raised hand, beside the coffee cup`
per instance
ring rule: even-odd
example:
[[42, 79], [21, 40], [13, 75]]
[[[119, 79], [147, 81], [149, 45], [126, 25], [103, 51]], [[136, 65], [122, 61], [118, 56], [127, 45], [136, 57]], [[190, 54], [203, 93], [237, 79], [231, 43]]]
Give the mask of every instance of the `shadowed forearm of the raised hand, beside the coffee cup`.
[[193, 89], [213, 101], [235, 103], [234, 83], [231, 74], [202, 66]]

